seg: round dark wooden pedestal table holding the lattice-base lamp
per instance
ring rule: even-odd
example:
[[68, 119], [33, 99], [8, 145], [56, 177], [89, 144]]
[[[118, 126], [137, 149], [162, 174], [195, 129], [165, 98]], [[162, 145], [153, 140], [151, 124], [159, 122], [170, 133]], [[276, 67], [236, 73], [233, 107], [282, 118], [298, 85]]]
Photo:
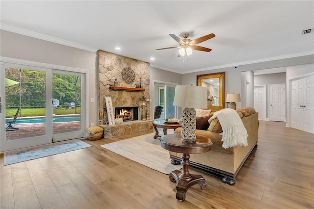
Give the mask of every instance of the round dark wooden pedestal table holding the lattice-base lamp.
[[194, 142], [183, 141], [180, 133], [164, 135], [160, 138], [161, 147], [176, 153], [182, 153], [183, 171], [172, 171], [169, 175], [171, 182], [176, 182], [176, 198], [180, 201], [185, 200], [185, 193], [190, 186], [199, 184], [201, 189], [207, 189], [207, 183], [202, 175], [190, 174], [189, 154], [206, 153], [211, 149], [212, 141], [206, 136], [196, 136]]

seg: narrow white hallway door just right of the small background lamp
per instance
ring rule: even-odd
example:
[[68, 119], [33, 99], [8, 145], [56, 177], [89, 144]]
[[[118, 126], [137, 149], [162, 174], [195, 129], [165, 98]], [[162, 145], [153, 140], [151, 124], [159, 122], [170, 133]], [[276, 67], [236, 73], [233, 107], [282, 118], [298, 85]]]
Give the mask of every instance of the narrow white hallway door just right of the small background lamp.
[[259, 120], [266, 119], [266, 86], [254, 86], [254, 109], [259, 113]]

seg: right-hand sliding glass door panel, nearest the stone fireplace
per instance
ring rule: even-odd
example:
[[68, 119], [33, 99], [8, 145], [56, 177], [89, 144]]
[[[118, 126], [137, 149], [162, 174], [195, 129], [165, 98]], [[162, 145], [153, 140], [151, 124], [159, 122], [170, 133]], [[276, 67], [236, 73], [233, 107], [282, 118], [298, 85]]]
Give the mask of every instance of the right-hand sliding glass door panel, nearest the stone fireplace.
[[52, 71], [53, 142], [84, 137], [85, 94], [83, 90], [84, 74]]

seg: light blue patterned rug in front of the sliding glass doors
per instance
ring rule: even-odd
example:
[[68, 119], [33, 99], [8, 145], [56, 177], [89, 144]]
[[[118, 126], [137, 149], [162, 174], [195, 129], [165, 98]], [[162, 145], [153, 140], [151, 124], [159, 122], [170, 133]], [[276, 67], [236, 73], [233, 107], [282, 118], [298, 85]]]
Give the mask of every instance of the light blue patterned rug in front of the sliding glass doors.
[[3, 165], [10, 165], [13, 163], [23, 162], [40, 157], [52, 156], [86, 147], [91, 147], [91, 145], [81, 140], [71, 140], [65, 142], [56, 142], [49, 145], [13, 150], [4, 153]]

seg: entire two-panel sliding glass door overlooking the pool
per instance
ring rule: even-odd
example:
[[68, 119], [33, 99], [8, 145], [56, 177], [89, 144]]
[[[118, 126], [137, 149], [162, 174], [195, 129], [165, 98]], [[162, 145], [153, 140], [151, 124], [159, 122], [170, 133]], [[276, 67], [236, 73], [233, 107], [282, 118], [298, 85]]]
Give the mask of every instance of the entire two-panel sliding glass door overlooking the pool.
[[84, 78], [83, 73], [1, 63], [1, 151], [84, 137]]

